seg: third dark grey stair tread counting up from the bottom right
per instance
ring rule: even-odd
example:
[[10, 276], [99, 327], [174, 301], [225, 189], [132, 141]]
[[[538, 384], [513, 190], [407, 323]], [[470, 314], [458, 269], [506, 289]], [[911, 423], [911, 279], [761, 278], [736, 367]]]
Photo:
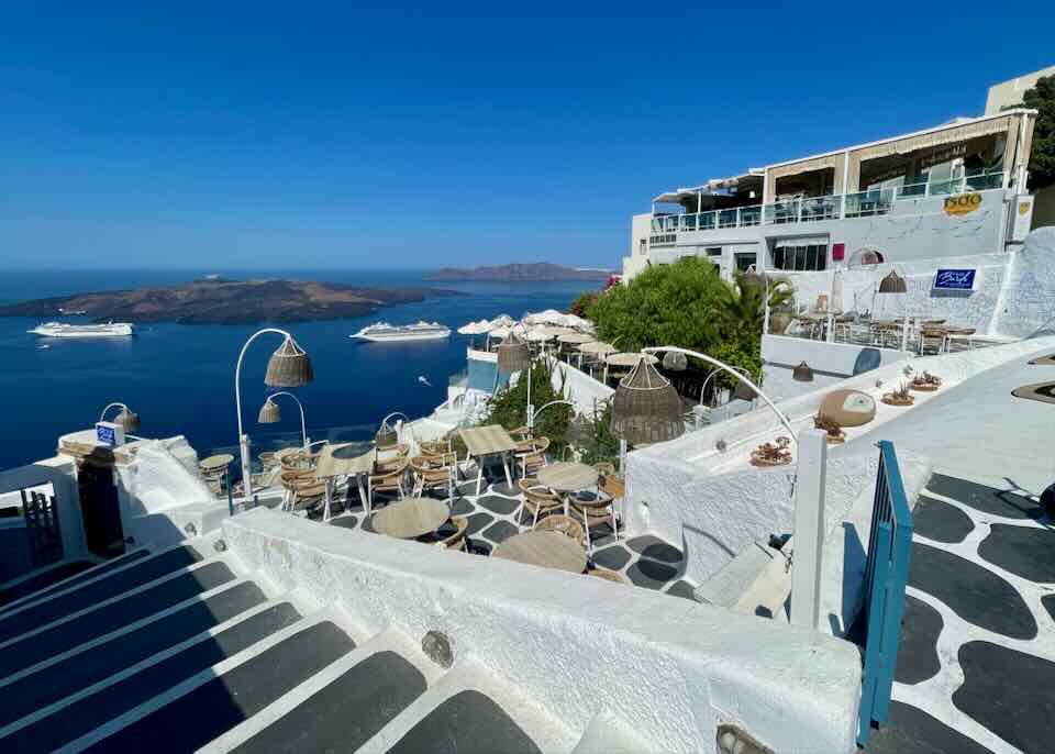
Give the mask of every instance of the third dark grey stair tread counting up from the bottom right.
[[[88, 752], [190, 752], [256, 714], [287, 691], [355, 648], [352, 639], [330, 620], [321, 620], [262, 651], [252, 647], [243, 662], [202, 683], [184, 684], [163, 694], [148, 710], [121, 727], [98, 731]], [[95, 736], [92, 736], [95, 738]]]

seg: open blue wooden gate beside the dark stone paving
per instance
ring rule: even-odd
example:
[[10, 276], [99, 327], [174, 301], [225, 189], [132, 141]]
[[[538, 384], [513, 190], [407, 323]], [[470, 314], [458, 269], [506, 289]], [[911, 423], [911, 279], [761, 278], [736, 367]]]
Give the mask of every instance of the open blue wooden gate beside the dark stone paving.
[[882, 440], [865, 567], [865, 668], [857, 730], [857, 743], [862, 746], [868, 743], [871, 723], [885, 722], [890, 710], [911, 554], [912, 511], [904, 496], [893, 443]]

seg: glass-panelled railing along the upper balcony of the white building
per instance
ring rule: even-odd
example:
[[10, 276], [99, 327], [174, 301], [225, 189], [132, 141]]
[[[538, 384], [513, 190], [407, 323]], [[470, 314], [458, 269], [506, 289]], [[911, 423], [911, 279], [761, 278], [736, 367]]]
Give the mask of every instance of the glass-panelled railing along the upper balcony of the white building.
[[840, 218], [870, 218], [888, 214], [899, 199], [948, 196], [965, 191], [988, 191], [1003, 186], [1001, 170], [979, 171], [951, 180], [904, 184], [856, 193], [804, 197], [771, 204], [733, 207], [709, 212], [663, 214], [652, 218], [652, 243], [673, 244], [678, 233], [729, 230], [756, 225], [820, 222]]

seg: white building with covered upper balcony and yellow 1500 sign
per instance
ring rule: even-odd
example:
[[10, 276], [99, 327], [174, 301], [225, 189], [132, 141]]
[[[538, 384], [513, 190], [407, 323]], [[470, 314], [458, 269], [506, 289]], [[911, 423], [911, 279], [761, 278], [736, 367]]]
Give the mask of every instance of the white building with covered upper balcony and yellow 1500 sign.
[[796, 274], [1004, 252], [1030, 229], [1036, 111], [1014, 109], [751, 168], [655, 197], [623, 279], [685, 256]]

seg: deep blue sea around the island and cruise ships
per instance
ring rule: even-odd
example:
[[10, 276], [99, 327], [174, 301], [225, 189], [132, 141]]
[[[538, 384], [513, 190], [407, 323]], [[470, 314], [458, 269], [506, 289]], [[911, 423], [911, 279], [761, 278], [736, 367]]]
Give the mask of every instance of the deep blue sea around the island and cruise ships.
[[[591, 282], [427, 284], [422, 273], [404, 270], [207, 271], [238, 279], [432, 285], [464, 293], [388, 307], [370, 317], [280, 325], [293, 333], [312, 359], [315, 380], [293, 392], [304, 403], [313, 440], [367, 439], [390, 411], [412, 418], [427, 414], [446, 399], [448, 377], [465, 368], [466, 336], [452, 334], [448, 341], [404, 344], [348, 339], [364, 325], [378, 320], [404, 324], [426, 319], [456, 330], [469, 320], [500, 313], [520, 317], [548, 308], [564, 310], [579, 292], [596, 287]], [[179, 284], [200, 275], [173, 270], [4, 271], [0, 301]], [[32, 319], [0, 318], [5, 428], [0, 469], [51, 456], [59, 435], [91, 426], [111, 401], [125, 402], [141, 414], [144, 436], [184, 434], [199, 453], [235, 444], [234, 364], [242, 344], [263, 325], [146, 324], [131, 339], [62, 341], [26, 334], [36, 324]], [[278, 399], [281, 423], [256, 423], [268, 392], [264, 386], [267, 358], [279, 343], [278, 335], [257, 339], [242, 367], [243, 422], [258, 446], [276, 432], [299, 433], [299, 413], [288, 399]], [[48, 347], [42, 347], [45, 344]]]

